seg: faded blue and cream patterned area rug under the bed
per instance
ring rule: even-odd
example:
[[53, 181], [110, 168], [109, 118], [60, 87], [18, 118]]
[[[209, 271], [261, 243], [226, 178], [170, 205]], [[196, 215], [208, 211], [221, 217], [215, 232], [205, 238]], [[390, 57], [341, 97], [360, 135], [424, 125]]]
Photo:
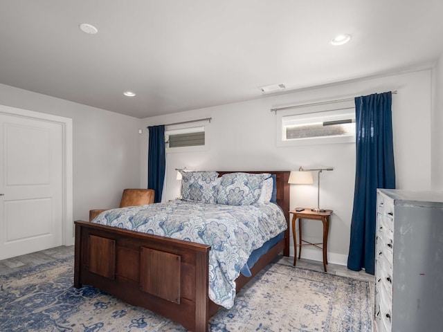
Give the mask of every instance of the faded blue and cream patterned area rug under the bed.
[[[0, 276], [0, 331], [186, 331], [96, 288], [73, 286], [73, 257]], [[368, 282], [273, 263], [210, 331], [372, 331]]]

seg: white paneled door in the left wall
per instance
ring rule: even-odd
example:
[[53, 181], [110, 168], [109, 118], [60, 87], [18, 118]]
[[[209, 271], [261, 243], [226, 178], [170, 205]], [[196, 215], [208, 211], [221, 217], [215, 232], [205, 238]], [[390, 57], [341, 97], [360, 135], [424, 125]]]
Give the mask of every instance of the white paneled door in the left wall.
[[0, 114], [0, 259], [63, 243], [62, 124]]

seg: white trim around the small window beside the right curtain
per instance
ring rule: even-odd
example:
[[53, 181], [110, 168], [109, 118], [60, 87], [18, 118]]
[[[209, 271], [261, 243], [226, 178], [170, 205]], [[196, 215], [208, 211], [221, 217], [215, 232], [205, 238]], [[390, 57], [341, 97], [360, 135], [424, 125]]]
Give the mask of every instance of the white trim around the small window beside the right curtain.
[[283, 132], [283, 118], [286, 116], [296, 116], [309, 113], [320, 113], [325, 111], [336, 111], [343, 109], [349, 111], [354, 109], [354, 100], [347, 100], [342, 102], [334, 102], [331, 104], [311, 105], [300, 107], [297, 109], [285, 109], [275, 112], [275, 145], [277, 147], [291, 147], [302, 145], [319, 145], [319, 144], [337, 144], [337, 143], [353, 143], [355, 142], [355, 135], [352, 136], [334, 136], [334, 137], [315, 137], [315, 138], [300, 138], [297, 140], [284, 140]]

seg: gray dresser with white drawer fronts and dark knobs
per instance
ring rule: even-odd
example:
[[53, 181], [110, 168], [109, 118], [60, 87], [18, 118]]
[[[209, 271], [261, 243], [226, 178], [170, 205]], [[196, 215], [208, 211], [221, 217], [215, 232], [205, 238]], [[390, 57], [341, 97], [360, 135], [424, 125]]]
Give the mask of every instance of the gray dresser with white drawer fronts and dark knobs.
[[375, 331], [443, 331], [443, 192], [377, 190]]

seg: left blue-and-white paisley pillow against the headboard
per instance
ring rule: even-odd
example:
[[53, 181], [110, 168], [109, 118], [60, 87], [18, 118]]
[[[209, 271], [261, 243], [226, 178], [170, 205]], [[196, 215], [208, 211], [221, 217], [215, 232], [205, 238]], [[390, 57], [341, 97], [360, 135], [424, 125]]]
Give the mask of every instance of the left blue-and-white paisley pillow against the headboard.
[[215, 203], [217, 196], [217, 172], [181, 173], [181, 199], [199, 203]]

